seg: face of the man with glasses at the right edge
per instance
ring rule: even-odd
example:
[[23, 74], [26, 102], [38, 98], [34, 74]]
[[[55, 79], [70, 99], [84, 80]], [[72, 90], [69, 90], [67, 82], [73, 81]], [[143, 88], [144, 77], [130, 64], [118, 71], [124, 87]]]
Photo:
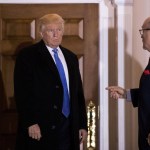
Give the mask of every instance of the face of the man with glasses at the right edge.
[[[150, 29], [150, 18], [144, 22], [142, 29]], [[141, 38], [143, 42], [143, 49], [150, 51], [150, 30], [143, 30]]]

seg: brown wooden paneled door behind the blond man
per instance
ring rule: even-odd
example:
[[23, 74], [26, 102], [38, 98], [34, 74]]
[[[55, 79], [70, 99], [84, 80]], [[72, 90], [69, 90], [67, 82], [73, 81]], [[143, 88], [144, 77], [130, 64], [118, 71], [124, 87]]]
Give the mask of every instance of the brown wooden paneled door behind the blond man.
[[[17, 129], [13, 72], [18, 51], [39, 40], [37, 20], [48, 13], [65, 19], [62, 45], [79, 56], [86, 104], [98, 104], [98, 5], [0, 5], [0, 149], [13, 150]], [[98, 137], [97, 137], [98, 138]], [[97, 145], [98, 147], [98, 145]], [[86, 149], [86, 144], [84, 148]]]

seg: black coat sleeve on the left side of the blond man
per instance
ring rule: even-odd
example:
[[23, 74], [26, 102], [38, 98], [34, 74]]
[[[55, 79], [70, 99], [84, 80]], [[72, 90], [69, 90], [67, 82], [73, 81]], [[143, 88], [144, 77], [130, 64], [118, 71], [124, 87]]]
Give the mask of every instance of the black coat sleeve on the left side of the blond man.
[[19, 121], [27, 128], [37, 123], [33, 96], [33, 68], [28, 55], [20, 54], [14, 70], [14, 94], [19, 114]]

